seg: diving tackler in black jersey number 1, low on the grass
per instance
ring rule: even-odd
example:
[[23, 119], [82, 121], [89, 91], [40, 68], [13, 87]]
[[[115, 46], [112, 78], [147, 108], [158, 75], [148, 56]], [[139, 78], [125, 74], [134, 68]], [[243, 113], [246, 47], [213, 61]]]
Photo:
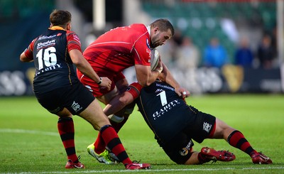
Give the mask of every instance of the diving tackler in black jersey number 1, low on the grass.
[[[193, 141], [202, 143], [205, 138], [224, 139], [231, 146], [247, 153], [253, 163], [271, 164], [271, 158], [253, 149], [244, 134], [211, 114], [206, 114], [186, 104], [175, 89], [165, 82], [156, 81], [148, 87], [137, 82], [129, 86], [122, 97], [113, 99], [104, 108], [107, 115], [116, 113], [136, 99], [138, 109], [155, 134], [160, 147], [178, 164], [202, 164], [209, 161], [233, 161], [229, 151], [216, 151], [204, 147], [193, 151]], [[115, 158], [115, 156], [114, 156]]]

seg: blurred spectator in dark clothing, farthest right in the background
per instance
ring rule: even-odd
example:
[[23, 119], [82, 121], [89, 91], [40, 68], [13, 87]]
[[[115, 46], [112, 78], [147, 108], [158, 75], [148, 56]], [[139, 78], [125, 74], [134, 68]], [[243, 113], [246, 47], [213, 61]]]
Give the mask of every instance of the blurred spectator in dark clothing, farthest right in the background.
[[265, 35], [258, 45], [257, 58], [264, 69], [273, 67], [273, 60], [275, 58], [273, 47], [271, 46], [271, 36]]

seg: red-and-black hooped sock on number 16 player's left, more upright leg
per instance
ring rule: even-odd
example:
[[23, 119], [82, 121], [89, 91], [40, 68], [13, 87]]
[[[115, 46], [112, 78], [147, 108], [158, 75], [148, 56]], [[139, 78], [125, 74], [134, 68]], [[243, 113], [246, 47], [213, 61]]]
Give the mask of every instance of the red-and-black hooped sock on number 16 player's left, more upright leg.
[[58, 119], [58, 133], [67, 153], [67, 159], [72, 160], [73, 163], [78, 163], [78, 158], [75, 151], [74, 141], [74, 122], [70, 117]]

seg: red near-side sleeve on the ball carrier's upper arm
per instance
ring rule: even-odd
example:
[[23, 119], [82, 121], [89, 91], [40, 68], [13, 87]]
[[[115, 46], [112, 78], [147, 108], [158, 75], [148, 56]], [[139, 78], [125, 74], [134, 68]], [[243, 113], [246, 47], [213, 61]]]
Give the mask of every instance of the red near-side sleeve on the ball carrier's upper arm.
[[148, 34], [144, 34], [138, 38], [133, 51], [135, 52], [135, 64], [137, 65], [151, 65], [151, 49], [149, 48], [150, 38]]

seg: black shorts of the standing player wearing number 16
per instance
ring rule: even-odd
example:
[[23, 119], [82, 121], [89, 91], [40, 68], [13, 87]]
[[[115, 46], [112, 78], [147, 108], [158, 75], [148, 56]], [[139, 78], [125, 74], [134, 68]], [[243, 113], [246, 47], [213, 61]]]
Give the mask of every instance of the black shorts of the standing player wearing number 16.
[[67, 108], [73, 115], [80, 114], [95, 99], [92, 93], [80, 82], [43, 94], [35, 94], [35, 97], [45, 109], [53, 114]]

